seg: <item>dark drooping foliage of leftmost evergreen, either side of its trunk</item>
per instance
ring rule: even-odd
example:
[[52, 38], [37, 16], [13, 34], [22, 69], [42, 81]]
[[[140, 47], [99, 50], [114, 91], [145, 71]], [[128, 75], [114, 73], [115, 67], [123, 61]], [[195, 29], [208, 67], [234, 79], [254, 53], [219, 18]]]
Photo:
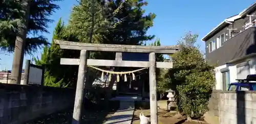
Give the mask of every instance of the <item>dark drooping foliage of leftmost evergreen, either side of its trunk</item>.
[[[41, 45], [46, 45], [47, 39], [39, 35], [39, 32], [48, 32], [48, 23], [52, 22], [48, 17], [59, 9], [53, 2], [61, 0], [32, 0], [30, 3], [30, 16], [28, 34], [26, 38], [26, 53], [32, 54]], [[20, 0], [0, 2], [0, 46], [8, 52], [14, 51], [15, 39], [18, 28], [24, 27], [22, 23], [23, 8]], [[31, 34], [33, 37], [28, 37]]]

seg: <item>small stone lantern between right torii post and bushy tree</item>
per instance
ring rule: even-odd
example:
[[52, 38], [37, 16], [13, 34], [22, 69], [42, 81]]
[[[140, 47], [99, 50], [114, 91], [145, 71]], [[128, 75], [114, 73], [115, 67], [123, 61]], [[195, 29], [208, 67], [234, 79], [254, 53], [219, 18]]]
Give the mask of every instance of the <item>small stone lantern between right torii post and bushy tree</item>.
[[173, 110], [176, 108], [176, 101], [175, 101], [175, 91], [172, 89], [166, 90], [165, 92], [168, 92], [167, 97], [169, 98], [167, 100], [167, 111]]

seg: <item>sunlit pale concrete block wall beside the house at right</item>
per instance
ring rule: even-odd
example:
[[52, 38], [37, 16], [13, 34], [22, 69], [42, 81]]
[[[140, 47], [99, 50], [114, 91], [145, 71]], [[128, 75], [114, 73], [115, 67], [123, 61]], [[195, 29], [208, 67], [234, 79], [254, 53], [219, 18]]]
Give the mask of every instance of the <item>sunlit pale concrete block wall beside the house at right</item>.
[[220, 124], [256, 124], [256, 91], [214, 91], [209, 113]]

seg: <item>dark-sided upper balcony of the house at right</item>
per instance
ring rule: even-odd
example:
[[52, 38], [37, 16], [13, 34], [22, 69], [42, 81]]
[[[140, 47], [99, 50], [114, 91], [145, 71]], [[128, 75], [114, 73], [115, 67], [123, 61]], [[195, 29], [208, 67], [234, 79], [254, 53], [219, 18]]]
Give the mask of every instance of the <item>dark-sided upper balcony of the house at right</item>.
[[256, 28], [251, 27], [222, 43], [222, 46], [210, 53], [206, 52], [206, 60], [218, 66], [256, 53]]

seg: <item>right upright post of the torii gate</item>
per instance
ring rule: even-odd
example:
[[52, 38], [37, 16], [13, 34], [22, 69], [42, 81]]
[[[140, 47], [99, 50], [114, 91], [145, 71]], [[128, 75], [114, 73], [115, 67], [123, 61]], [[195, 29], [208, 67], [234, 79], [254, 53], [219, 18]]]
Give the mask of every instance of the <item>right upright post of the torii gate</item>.
[[150, 116], [151, 116], [151, 123], [158, 124], [156, 55], [155, 55], [155, 53], [150, 53], [149, 60], [150, 60]]

